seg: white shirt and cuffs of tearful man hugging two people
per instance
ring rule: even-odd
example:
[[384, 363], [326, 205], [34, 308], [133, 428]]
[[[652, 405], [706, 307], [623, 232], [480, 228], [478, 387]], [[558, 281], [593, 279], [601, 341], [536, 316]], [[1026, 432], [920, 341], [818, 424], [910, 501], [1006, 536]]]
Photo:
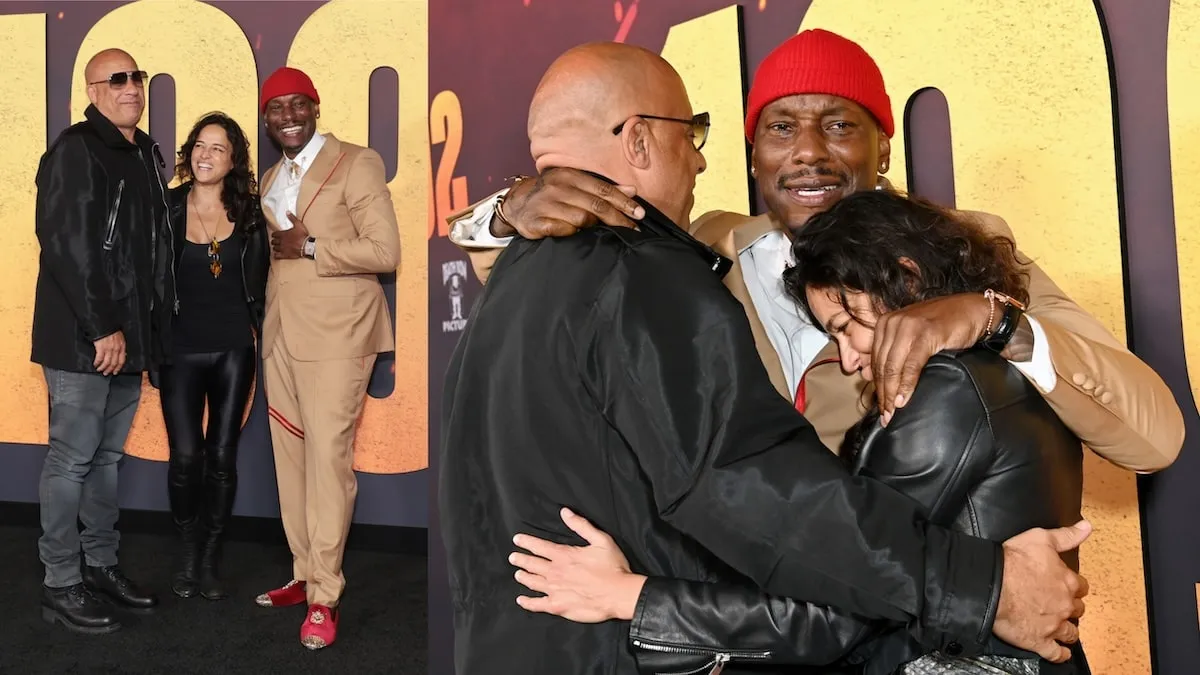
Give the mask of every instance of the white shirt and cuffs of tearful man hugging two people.
[[[506, 190], [500, 190], [481, 202], [475, 209], [455, 221], [450, 228], [450, 240], [464, 249], [503, 249], [511, 237], [493, 237], [491, 232], [496, 203]], [[829, 336], [809, 323], [799, 306], [784, 291], [784, 270], [792, 264], [792, 245], [787, 235], [772, 231], [738, 251], [742, 277], [750, 291], [750, 299], [770, 344], [779, 354], [788, 390], [794, 392], [800, 377], [817, 353], [829, 344]], [[1033, 329], [1033, 358], [1028, 362], [1009, 362], [1045, 393], [1058, 383], [1050, 346], [1045, 331], [1030, 315], [1025, 315]]]

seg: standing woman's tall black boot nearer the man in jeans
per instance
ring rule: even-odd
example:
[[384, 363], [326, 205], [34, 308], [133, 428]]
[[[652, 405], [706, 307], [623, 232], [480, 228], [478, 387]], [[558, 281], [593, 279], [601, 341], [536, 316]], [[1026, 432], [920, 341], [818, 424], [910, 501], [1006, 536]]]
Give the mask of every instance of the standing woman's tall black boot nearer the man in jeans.
[[167, 468], [167, 496], [180, 543], [170, 590], [181, 598], [190, 598], [199, 592], [200, 539], [204, 536], [199, 516], [202, 480], [203, 465], [194, 456], [172, 448]]

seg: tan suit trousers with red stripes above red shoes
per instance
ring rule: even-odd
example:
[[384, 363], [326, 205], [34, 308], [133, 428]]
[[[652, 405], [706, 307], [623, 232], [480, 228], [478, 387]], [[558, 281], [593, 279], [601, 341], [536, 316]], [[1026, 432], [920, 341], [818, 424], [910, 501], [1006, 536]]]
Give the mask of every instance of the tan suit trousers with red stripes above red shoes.
[[307, 581], [308, 604], [336, 607], [342, 556], [359, 485], [354, 431], [376, 354], [300, 362], [283, 331], [263, 364], [275, 476], [293, 578]]

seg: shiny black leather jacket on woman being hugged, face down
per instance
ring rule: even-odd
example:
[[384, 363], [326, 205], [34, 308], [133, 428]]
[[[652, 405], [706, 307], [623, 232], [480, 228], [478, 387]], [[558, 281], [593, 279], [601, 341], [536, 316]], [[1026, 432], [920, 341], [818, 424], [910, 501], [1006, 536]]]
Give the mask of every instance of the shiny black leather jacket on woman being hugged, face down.
[[[1080, 519], [1079, 440], [1015, 368], [990, 352], [934, 357], [912, 401], [886, 429], [876, 419], [847, 435], [860, 437], [847, 443], [860, 448], [850, 460], [854, 471], [918, 501], [932, 522], [1000, 542]], [[1079, 568], [1075, 552], [1063, 555]], [[704, 673], [727, 661], [881, 675], [925, 651], [904, 626], [772, 597], [749, 584], [662, 578], [647, 580], [630, 641], [643, 673]], [[995, 637], [984, 653], [1036, 658]], [[1067, 664], [1043, 663], [1042, 673], [1087, 673], [1087, 665], [1076, 650]]]

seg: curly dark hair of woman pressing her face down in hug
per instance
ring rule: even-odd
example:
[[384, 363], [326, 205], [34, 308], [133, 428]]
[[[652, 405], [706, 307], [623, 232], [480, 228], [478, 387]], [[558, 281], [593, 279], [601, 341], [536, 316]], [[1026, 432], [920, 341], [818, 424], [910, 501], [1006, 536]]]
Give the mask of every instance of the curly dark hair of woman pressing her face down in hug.
[[851, 195], [812, 216], [792, 255], [784, 286], [822, 329], [804, 292], [810, 286], [838, 291], [844, 306], [847, 291], [866, 293], [880, 313], [988, 288], [1028, 301], [1028, 261], [1019, 259], [1012, 239], [890, 190]]

